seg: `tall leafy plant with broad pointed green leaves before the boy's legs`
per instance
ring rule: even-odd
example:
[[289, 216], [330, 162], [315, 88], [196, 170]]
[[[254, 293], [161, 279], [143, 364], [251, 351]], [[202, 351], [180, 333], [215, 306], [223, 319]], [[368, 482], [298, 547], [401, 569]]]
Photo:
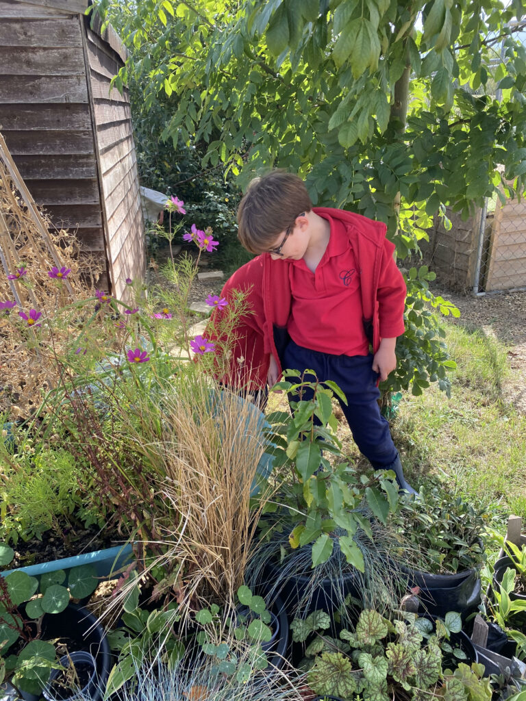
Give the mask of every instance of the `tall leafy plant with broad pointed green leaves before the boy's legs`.
[[[276, 501], [289, 508], [290, 520], [295, 522], [290, 547], [312, 544], [312, 564], [316, 566], [330, 558], [337, 538], [347, 562], [363, 572], [363, 554], [353, 535], [360, 527], [372, 540], [372, 531], [369, 520], [356, 509], [365, 497], [372, 513], [385, 524], [389, 512], [398, 506], [394, 473], [379, 470], [371, 477], [358, 478], [342, 459], [332, 396], [342, 401], [345, 396], [336, 383], [288, 381], [288, 377], [297, 379], [296, 370], [285, 370], [283, 375], [285, 380], [274, 390], [290, 395], [293, 414], [276, 411], [267, 420], [272, 425], [269, 442], [274, 444], [269, 452], [274, 454], [274, 472], [280, 484]], [[306, 391], [313, 393], [311, 399], [302, 398]]]

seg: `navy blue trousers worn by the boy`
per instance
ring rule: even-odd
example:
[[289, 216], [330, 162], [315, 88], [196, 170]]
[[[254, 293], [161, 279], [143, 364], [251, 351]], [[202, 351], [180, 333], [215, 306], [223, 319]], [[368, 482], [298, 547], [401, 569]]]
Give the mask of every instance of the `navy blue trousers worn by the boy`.
[[[283, 354], [283, 368], [299, 370], [311, 369], [319, 381], [332, 380], [344, 393], [347, 404], [339, 401], [344, 416], [349, 423], [354, 442], [375, 470], [391, 466], [398, 456], [389, 423], [380, 414], [376, 386], [378, 374], [372, 369], [372, 354], [332, 355], [311, 351], [290, 341]], [[288, 378], [290, 379], [290, 378]], [[313, 376], [306, 374], [306, 381]], [[309, 400], [312, 390], [304, 393]]]

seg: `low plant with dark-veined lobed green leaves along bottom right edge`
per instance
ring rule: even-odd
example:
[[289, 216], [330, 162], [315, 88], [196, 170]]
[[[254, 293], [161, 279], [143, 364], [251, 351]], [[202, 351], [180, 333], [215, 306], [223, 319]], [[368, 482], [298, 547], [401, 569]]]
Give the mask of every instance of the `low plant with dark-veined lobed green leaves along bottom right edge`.
[[309, 668], [309, 686], [319, 695], [351, 700], [360, 694], [368, 701], [429, 695], [490, 701], [492, 689], [489, 679], [483, 679], [483, 665], [469, 667], [460, 662], [454, 672], [443, 667], [441, 641], [458, 629], [459, 618], [448, 614], [432, 634], [432, 624], [413, 614], [391, 622], [377, 611], [366, 610], [360, 613], [356, 631], [344, 629], [338, 640], [323, 633], [330, 621], [323, 611], [316, 611], [306, 620], [292, 622], [292, 639], [311, 638], [306, 655], [314, 659], [304, 664]]

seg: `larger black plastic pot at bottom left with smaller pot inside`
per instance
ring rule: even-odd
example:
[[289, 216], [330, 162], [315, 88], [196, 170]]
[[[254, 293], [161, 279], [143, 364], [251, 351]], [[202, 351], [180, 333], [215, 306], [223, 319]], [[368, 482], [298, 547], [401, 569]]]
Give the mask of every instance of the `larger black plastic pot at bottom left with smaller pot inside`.
[[112, 656], [104, 628], [86, 608], [69, 604], [61, 613], [46, 613], [42, 619], [42, 639], [59, 639], [65, 643], [67, 651], [89, 653], [95, 659], [96, 676], [93, 701], [100, 701], [112, 667]]

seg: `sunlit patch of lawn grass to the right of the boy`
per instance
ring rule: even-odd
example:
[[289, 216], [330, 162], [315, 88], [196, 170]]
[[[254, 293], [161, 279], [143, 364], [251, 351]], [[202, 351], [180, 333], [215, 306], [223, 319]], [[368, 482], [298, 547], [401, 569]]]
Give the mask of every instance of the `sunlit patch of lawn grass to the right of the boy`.
[[406, 476], [416, 485], [438, 477], [503, 523], [511, 513], [526, 519], [526, 416], [503, 397], [512, 381], [506, 346], [483, 329], [444, 326], [457, 362], [451, 398], [435, 386], [406, 393], [392, 422]]

